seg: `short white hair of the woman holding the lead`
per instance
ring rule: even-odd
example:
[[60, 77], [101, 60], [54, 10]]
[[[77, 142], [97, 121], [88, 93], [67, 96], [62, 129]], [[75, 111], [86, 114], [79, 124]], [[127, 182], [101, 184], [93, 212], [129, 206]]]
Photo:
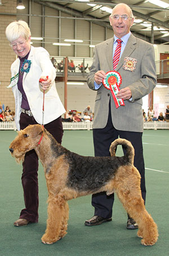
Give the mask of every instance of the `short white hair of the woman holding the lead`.
[[6, 28], [7, 40], [12, 42], [17, 40], [20, 36], [24, 37], [26, 40], [31, 36], [28, 24], [23, 20], [11, 22]]

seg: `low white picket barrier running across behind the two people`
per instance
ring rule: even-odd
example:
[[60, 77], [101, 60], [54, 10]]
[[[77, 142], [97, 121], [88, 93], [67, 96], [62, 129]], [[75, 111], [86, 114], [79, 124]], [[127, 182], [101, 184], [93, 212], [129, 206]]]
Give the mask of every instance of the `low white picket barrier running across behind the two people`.
[[[64, 130], [92, 130], [93, 122], [63, 122]], [[169, 122], [144, 122], [144, 129], [169, 129]], [[0, 130], [15, 130], [15, 122], [0, 122]]]

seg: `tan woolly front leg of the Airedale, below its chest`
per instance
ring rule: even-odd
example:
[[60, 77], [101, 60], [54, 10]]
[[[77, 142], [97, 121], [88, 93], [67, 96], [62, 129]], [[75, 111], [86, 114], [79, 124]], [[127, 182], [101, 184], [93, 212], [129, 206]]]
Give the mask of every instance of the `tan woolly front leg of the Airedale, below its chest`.
[[41, 238], [44, 244], [53, 244], [66, 235], [66, 225], [63, 228], [63, 224], [65, 224], [63, 216], [66, 215], [68, 218], [68, 214], [65, 214], [65, 210], [67, 210], [68, 206], [65, 206], [65, 203], [63, 196], [57, 195], [54, 197], [54, 195], [50, 195], [48, 197], [47, 227], [45, 234]]

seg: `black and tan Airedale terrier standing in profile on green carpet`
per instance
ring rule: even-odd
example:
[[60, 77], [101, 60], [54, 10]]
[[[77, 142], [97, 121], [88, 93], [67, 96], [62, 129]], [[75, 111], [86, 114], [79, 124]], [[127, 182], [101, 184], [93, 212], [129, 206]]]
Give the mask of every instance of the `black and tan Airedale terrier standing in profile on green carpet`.
[[[126, 149], [115, 157], [117, 145]], [[44, 167], [48, 189], [48, 219], [44, 244], [52, 244], [66, 235], [68, 200], [105, 191], [117, 193], [124, 209], [139, 225], [141, 244], [157, 242], [157, 225], [145, 209], [140, 190], [140, 173], [134, 167], [131, 142], [117, 139], [110, 146], [111, 157], [83, 157], [61, 146], [42, 125], [29, 125], [11, 142], [10, 151], [17, 162], [34, 149]]]

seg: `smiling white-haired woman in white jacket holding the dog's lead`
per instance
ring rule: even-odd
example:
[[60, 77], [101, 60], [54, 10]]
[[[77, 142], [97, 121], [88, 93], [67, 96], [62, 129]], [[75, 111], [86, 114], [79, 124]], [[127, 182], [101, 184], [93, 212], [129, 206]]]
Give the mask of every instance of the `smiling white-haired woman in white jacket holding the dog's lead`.
[[[25, 21], [14, 21], [6, 28], [6, 37], [19, 57], [11, 65], [11, 84], [15, 97], [15, 122], [18, 130], [29, 124], [42, 124], [43, 90], [45, 113], [43, 124], [61, 143], [63, 127], [61, 115], [65, 109], [55, 86], [56, 71], [50, 55], [42, 47], [30, 46], [30, 29]], [[39, 79], [41, 81], [39, 83]], [[21, 177], [25, 209], [15, 226], [38, 222], [38, 157], [34, 150], [25, 155]]]

